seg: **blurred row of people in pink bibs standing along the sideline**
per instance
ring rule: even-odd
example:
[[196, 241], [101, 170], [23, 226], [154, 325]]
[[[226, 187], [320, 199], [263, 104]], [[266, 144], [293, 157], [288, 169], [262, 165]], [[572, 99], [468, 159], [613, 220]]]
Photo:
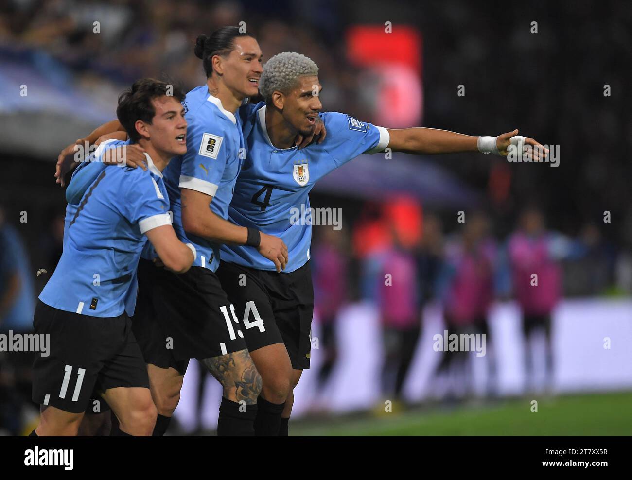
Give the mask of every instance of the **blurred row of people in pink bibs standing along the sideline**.
[[[448, 231], [443, 219], [453, 228]], [[544, 338], [544, 381], [536, 380], [533, 349], [527, 347], [525, 391], [550, 391], [552, 315], [562, 297], [632, 292], [632, 258], [604, 239], [596, 225], [586, 224], [579, 236], [565, 236], [547, 226], [537, 205], [524, 207], [505, 237], [495, 234], [494, 217], [483, 210], [459, 212], [454, 223], [445, 214], [422, 212], [416, 201], [400, 198], [367, 205], [351, 236], [319, 227], [312, 268], [325, 358], [318, 374], [321, 386], [336, 363], [335, 323], [350, 301], [366, 301], [379, 311], [382, 393], [402, 399], [430, 303], [441, 308], [450, 333], [486, 336], [485, 394], [493, 396], [497, 385], [489, 319], [495, 302], [518, 304], [526, 345], [532, 345], [534, 335]], [[444, 352], [435, 375], [447, 373], [456, 377], [455, 391], [447, 395], [473, 393], [470, 353]]]

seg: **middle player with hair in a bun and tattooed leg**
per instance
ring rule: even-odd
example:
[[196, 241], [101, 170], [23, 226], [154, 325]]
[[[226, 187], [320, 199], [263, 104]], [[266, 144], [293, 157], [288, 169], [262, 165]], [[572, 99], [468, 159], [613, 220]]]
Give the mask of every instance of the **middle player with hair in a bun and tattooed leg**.
[[[200, 255], [190, 272], [178, 276], [141, 260], [133, 328], [158, 409], [154, 435], [167, 429], [191, 358], [199, 359], [224, 387], [218, 435], [253, 435], [261, 378], [214, 272], [220, 243], [248, 245], [277, 270], [288, 260], [281, 239], [226, 220], [245, 157], [236, 111], [258, 92], [262, 54], [257, 40], [237, 27], [200, 35], [195, 54], [203, 60], [207, 83], [186, 95], [187, 152], [173, 160], [165, 178], [176, 232]], [[97, 130], [106, 133], [108, 128]]]

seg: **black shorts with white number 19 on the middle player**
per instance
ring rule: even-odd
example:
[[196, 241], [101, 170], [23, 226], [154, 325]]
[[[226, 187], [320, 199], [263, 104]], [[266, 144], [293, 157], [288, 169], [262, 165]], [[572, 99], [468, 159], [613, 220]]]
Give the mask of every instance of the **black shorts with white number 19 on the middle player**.
[[217, 275], [191, 267], [177, 274], [138, 263], [138, 298], [132, 319], [145, 362], [185, 373], [191, 358], [217, 357], [246, 349], [241, 323]]

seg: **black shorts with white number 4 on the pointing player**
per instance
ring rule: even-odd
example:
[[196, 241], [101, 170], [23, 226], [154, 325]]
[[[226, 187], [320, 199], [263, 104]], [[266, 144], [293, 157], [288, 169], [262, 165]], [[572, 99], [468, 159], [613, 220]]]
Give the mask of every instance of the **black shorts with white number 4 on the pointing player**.
[[249, 351], [284, 343], [292, 368], [310, 368], [314, 293], [309, 262], [277, 273], [222, 261], [217, 277], [243, 323]]

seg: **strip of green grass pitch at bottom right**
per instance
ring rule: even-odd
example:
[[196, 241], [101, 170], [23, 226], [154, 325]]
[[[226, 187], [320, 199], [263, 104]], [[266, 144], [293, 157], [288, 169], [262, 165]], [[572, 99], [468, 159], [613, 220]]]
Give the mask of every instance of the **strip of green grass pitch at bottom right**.
[[477, 407], [400, 412], [393, 405], [392, 412], [379, 416], [297, 421], [290, 435], [632, 435], [632, 392], [533, 395]]

